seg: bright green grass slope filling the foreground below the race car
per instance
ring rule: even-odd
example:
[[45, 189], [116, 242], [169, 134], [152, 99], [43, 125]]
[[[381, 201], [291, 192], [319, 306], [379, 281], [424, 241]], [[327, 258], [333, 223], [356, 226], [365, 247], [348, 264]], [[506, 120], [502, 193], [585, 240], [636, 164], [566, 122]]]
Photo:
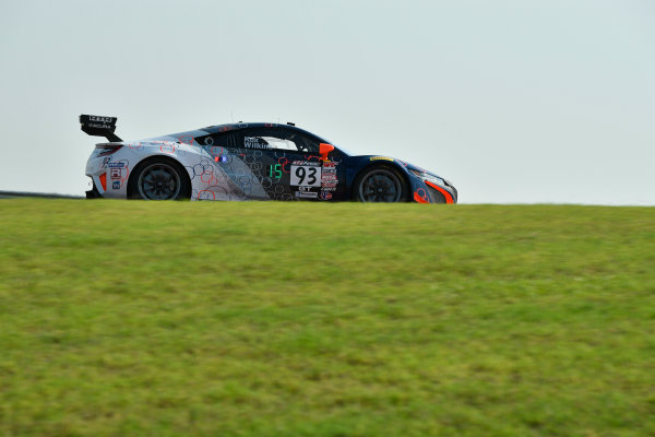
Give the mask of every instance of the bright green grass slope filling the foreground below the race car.
[[1, 436], [653, 436], [655, 209], [0, 201]]

